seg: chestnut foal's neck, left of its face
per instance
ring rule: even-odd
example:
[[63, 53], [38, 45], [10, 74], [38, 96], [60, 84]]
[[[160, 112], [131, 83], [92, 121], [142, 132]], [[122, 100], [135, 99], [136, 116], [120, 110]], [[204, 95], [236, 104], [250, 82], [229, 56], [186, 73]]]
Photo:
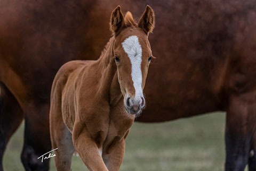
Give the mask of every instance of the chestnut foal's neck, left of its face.
[[119, 87], [117, 67], [114, 61], [114, 37], [111, 37], [98, 59], [100, 78], [100, 92], [107, 98], [109, 104], [115, 106], [122, 98]]

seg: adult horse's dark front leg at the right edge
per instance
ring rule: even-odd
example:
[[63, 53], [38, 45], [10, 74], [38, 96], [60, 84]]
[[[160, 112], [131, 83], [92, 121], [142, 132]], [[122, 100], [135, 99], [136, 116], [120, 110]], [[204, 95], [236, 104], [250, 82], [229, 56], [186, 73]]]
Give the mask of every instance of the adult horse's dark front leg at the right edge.
[[[256, 124], [254, 97], [255, 93], [230, 97], [225, 137], [226, 171], [242, 171], [248, 162]], [[255, 158], [251, 159], [253, 160], [255, 161]], [[255, 163], [251, 164], [252, 167], [255, 168]]]

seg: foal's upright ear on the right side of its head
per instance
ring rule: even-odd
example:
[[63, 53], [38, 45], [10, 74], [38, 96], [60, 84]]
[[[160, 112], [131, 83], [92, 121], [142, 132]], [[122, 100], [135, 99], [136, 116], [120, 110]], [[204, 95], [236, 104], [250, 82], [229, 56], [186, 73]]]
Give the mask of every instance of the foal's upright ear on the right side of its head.
[[148, 35], [155, 27], [155, 13], [153, 9], [147, 5], [146, 10], [142, 14], [138, 26]]

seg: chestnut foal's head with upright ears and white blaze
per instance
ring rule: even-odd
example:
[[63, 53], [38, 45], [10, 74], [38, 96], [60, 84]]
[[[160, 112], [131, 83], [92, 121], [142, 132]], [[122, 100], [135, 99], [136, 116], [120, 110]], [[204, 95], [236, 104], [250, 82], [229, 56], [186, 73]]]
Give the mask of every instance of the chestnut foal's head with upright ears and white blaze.
[[146, 7], [139, 23], [130, 12], [125, 16], [117, 6], [110, 19], [110, 30], [115, 37], [114, 58], [118, 81], [124, 96], [124, 106], [128, 113], [139, 114], [146, 105], [143, 89], [148, 74], [152, 52], [148, 34], [155, 26], [154, 11]]

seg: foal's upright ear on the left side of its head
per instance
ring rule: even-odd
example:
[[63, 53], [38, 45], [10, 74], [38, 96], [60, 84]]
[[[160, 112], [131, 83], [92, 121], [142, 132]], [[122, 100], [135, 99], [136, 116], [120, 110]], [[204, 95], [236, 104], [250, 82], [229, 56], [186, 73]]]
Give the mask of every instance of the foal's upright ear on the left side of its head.
[[111, 14], [110, 30], [114, 36], [117, 36], [124, 27], [124, 15], [121, 11], [121, 7], [118, 5]]

